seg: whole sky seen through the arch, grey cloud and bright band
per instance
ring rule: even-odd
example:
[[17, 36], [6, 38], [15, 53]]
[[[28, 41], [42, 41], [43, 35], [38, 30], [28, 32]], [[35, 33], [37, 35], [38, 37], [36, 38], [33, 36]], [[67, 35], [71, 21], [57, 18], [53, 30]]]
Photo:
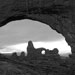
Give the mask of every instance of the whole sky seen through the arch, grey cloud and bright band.
[[60, 49], [60, 53], [71, 50], [61, 34], [38, 21], [28, 19], [12, 21], [0, 28], [1, 52], [11, 52], [15, 49], [16, 51], [25, 51], [29, 40], [32, 40], [35, 48], [45, 47], [52, 50], [57, 47]]

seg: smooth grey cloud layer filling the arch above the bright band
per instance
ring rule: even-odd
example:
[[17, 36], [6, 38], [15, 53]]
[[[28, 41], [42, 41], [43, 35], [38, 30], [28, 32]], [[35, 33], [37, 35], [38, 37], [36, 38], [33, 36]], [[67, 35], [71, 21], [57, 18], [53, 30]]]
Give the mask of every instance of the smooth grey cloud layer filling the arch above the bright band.
[[47, 42], [62, 39], [62, 35], [49, 26], [31, 20], [11, 22], [0, 28], [0, 46], [24, 43], [29, 40]]

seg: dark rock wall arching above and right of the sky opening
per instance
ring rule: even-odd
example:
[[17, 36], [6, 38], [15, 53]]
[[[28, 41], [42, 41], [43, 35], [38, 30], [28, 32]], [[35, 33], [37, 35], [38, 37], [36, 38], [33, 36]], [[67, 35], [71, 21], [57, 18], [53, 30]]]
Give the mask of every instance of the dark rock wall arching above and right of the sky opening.
[[0, 0], [0, 27], [21, 19], [49, 25], [65, 37], [75, 53], [74, 0]]

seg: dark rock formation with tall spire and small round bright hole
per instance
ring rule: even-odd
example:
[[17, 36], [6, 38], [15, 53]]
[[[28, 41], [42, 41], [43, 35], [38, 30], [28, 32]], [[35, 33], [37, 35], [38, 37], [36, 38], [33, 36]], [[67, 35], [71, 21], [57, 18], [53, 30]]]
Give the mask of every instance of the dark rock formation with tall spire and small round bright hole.
[[[41, 52], [45, 51], [43, 55]], [[58, 49], [54, 48], [53, 50], [45, 49], [45, 48], [34, 48], [32, 41], [28, 42], [27, 46], [27, 57], [29, 59], [59, 59]]]

